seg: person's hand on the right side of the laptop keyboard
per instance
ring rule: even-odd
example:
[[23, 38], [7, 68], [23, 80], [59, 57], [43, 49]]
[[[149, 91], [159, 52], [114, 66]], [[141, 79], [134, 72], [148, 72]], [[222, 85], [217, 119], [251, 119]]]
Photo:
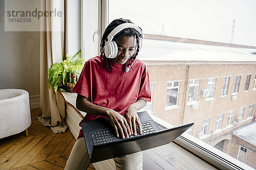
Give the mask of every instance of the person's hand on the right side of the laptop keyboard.
[[125, 111], [125, 117], [130, 126], [131, 134], [134, 134], [135, 136], [137, 136], [136, 123], [139, 127], [140, 134], [142, 134], [140, 118], [138, 116], [137, 109], [134, 107], [134, 105], [130, 105], [127, 108], [127, 110]]

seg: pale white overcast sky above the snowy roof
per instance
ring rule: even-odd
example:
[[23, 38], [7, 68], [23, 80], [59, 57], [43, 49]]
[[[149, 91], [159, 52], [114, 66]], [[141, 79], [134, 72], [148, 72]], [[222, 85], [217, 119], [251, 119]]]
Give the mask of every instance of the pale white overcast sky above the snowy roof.
[[144, 34], [256, 46], [256, 0], [109, 0], [109, 23], [130, 19]]

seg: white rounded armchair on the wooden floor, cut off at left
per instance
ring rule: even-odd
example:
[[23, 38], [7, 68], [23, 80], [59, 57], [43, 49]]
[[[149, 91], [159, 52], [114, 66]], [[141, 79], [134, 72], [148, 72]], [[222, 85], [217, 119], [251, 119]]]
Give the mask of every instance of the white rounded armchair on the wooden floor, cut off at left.
[[29, 93], [22, 89], [0, 90], [0, 139], [20, 133], [31, 125]]

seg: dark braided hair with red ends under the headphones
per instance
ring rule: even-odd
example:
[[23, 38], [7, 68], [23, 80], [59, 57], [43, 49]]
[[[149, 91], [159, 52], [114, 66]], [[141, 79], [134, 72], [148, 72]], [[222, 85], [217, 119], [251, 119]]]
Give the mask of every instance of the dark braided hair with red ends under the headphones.
[[[122, 18], [113, 20], [108, 27], [105, 29], [103, 35], [102, 35], [102, 40], [100, 43], [100, 58], [102, 59], [102, 62], [105, 64], [107, 70], [112, 73], [112, 64], [111, 64], [111, 59], [107, 58], [104, 53], [104, 46], [105, 42], [108, 41], [108, 35], [113, 31], [114, 28], [117, 26], [123, 24], [123, 23], [132, 23], [131, 20], [125, 20]], [[140, 28], [141, 29], [141, 28]], [[127, 37], [135, 37], [136, 38], [136, 44], [137, 44], [137, 50], [136, 52], [123, 64], [123, 73], [125, 73], [125, 68], [129, 67], [136, 59], [139, 51], [140, 51], [140, 38], [142, 38], [142, 35], [134, 28], [125, 28], [119, 33], [117, 33], [113, 37], [113, 41], [118, 40], [119, 38], [127, 36]]]

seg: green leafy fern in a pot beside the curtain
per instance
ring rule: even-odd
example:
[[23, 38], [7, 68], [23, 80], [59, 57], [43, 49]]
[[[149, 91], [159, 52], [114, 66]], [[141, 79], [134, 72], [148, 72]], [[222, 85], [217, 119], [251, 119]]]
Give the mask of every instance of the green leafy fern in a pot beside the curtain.
[[83, 68], [84, 59], [80, 56], [81, 50], [73, 56], [67, 53], [64, 61], [51, 65], [48, 70], [48, 85], [49, 88], [52, 87], [55, 93], [58, 89], [61, 91], [72, 91]]

